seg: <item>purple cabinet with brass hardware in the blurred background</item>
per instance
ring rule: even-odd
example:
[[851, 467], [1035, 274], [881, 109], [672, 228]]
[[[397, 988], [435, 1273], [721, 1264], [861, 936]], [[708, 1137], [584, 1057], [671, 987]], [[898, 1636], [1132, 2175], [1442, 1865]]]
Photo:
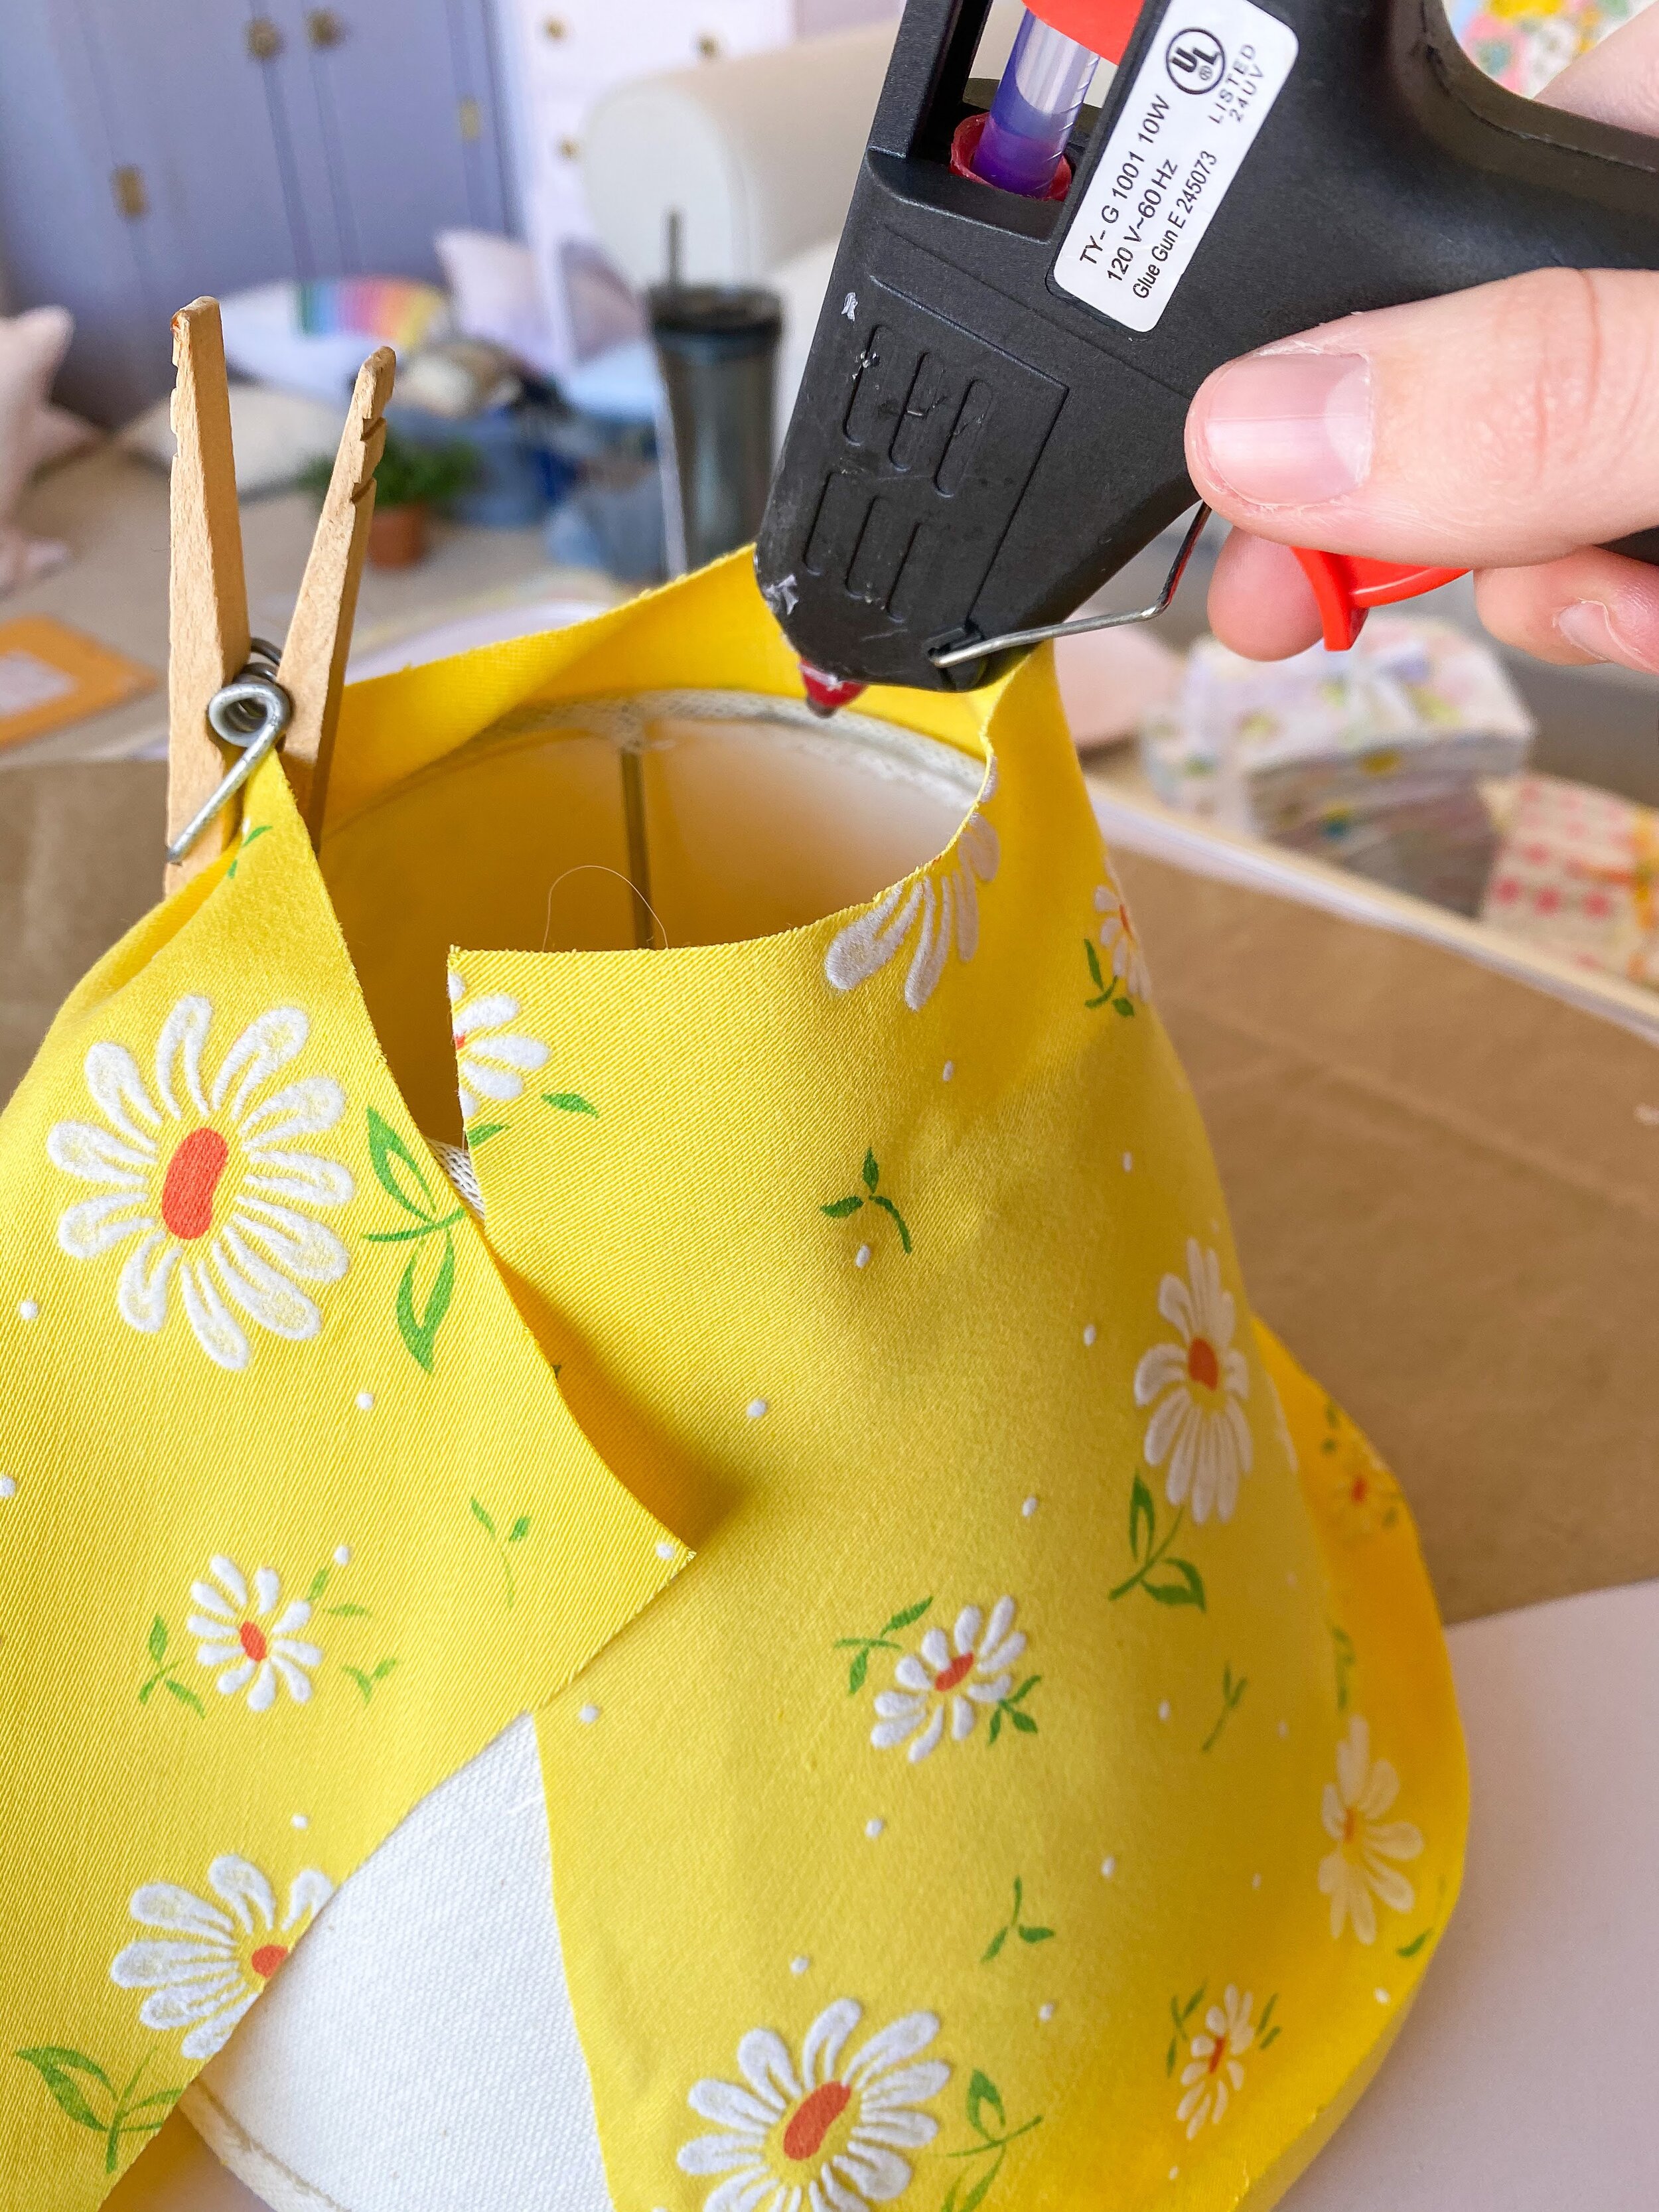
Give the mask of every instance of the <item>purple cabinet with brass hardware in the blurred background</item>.
[[9, 0], [0, 268], [62, 301], [62, 396], [170, 383], [168, 319], [276, 276], [436, 276], [434, 230], [509, 228], [487, 0]]

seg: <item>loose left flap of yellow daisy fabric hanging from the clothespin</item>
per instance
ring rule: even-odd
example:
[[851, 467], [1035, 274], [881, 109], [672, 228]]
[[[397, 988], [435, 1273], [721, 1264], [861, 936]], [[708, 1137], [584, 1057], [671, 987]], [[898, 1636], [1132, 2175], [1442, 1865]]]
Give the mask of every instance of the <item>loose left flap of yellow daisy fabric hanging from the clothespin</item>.
[[248, 823], [0, 1117], [0, 2174], [31, 2212], [100, 2203], [334, 1887], [686, 1562], [403, 1110], [281, 772]]

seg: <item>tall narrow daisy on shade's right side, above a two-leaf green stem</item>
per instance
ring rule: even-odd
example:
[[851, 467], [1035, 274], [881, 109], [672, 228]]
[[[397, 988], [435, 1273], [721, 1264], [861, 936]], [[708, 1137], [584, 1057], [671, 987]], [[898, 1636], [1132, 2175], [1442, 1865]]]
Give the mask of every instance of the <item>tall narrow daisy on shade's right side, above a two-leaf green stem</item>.
[[1179, 1343], [1152, 1345], [1135, 1369], [1135, 1405], [1150, 1405], [1146, 1464], [1164, 1467], [1164, 1495], [1188, 1504], [1194, 1522], [1210, 1513], [1232, 1520], [1239, 1478], [1250, 1473], [1254, 1444], [1245, 1420], [1250, 1367], [1234, 1349], [1237, 1307], [1221, 1287], [1221, 1261], [1186, 1241], [1186, 1281], [1166, 1274], [1157, 1310]]

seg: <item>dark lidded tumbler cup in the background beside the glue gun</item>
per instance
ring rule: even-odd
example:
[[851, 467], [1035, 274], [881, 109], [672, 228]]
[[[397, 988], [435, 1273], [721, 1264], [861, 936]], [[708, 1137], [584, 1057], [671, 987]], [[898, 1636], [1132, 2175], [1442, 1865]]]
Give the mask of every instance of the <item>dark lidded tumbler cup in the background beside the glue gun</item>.
[[772, 387], [783, 305], [757, 285], [657, 285], [668, 562], [701, 568], [748, 544], [772, 482]]

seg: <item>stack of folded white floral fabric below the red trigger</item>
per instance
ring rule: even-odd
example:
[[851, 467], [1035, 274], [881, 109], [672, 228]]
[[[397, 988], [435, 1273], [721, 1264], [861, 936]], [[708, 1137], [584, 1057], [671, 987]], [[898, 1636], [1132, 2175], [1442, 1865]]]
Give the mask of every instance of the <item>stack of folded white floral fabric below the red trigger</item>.
[[1498, 849], [1482, 783], [1520, 772], [1533, 734], [1486, 646], [1374, 615], [1352, 653], [1290, 661], [1199, 639], [1141, 759], [1168, 805], [1473, 914]]

